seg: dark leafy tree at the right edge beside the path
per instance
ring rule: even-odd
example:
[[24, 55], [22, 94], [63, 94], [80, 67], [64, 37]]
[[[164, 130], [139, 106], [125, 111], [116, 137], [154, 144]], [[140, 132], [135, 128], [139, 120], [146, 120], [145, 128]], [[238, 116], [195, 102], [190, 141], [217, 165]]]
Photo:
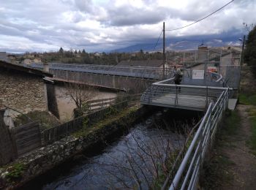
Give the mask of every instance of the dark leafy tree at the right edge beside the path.
[[256, 73], [256, 26], [249, 31], [244, 51], [244, 61], [252, 66], [253, 71]]

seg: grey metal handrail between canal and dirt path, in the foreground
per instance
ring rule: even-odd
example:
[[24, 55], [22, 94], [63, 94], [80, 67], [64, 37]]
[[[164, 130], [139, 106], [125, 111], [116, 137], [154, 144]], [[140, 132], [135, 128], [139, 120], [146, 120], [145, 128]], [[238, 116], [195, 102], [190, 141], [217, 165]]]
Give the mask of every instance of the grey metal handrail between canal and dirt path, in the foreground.
[[[197, 189], [200, 169], [203, 166], [206, 153], [213, 144], [217, 126], [227, 109], [228, 94], [229, 89], [226, 88], [222, 91], [217, 102], [209, 104], [206, 114], [203, 116], [203, 121], [197, 129], [169, 189]], [[165, 186], [162, 187], [162, 189], [165, 188]]]

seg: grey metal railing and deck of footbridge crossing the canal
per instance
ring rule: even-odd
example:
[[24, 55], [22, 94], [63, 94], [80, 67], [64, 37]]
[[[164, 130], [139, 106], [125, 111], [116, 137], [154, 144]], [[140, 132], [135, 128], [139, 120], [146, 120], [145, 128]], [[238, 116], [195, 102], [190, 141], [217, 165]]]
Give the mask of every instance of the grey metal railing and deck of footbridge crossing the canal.
[[141, 96], [141, 104], [178, 107], [189, 110], [206, 110], [217, 102], [224, 88], [173, 84], [173, 78], [153, 83]]

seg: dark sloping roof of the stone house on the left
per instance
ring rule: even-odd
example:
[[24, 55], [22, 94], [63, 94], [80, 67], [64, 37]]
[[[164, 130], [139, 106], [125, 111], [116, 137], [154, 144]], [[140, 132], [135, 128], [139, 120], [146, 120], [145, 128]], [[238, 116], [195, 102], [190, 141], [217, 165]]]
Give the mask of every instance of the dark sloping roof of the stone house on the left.
[[41, 76], [41, 77], [53, 77], [53, 75], [50, 74], [49, 72], [43, 72], [41, 70], [34, 69], [31, 67], [22, 66], [19, 64], [11, 64], [7, 61], [2, 61], [2, 60], [0, 60], [0, 68], [1, 67], [5, 68], [5, 69], [20, 71], [20, 72], [26, 72], [31, 75], [37, 75], [37, 76]]

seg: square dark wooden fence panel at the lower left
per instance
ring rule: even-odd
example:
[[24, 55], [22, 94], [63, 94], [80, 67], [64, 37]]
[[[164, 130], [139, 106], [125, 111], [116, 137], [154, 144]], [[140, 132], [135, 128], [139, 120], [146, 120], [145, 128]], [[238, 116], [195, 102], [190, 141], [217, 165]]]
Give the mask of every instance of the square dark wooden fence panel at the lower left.
[[41, 146], [41, 135], [38, 122], [27, 123], [12, 128], [12, 140], [15, 142], [15, 151], [18, 156]]

